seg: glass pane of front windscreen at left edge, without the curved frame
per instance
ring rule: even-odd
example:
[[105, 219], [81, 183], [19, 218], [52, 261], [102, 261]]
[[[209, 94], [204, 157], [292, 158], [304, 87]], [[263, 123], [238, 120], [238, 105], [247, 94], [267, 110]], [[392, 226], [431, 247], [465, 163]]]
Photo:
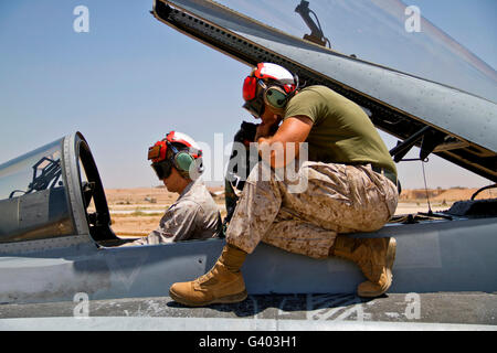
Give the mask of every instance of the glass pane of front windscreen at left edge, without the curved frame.
[[0, 164], [0, 243], [74, 234], [62, 141]]

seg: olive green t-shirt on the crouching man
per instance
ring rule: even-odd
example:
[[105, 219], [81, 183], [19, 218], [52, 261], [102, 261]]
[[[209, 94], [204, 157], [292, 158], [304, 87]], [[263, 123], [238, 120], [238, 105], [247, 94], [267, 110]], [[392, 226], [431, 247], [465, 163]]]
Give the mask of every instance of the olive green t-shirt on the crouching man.
[[368, 115], [353, 101], [325, 86], [303, 88], [288, 101], [285, 117], [314, 122], [306, 142], [309, 160], [327, 163], [372, 163], [396, 174], [395, 164]]

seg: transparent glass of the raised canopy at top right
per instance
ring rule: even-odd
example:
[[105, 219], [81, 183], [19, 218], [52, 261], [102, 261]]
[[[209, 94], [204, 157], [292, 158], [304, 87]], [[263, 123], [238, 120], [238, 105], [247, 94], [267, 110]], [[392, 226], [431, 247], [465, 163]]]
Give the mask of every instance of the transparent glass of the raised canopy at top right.
[[341, 54], [497, 101], [495, 69], [400, 0], [215, 2]]

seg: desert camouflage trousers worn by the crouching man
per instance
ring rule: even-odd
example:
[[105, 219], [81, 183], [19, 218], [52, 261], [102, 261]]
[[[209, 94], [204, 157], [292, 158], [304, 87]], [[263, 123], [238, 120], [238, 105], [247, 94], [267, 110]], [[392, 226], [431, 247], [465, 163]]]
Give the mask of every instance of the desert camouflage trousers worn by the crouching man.
[[394, 214], [398, 195], [371, 165], [305, 162], [289, 182], [260, 162], [245, 182], [226, 242], [248, 254], [264, 242], [324, 258], [337, 234], [381, 228]]

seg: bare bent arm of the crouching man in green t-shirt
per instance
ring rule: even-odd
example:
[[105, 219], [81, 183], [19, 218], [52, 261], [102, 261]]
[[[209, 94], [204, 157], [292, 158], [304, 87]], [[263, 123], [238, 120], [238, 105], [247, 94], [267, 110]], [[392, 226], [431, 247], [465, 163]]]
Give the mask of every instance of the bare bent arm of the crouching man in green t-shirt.
[[[277, 124], [275, 120], [273, 124]], [[261, 157], [273, 168], [282, 168], [298, 158], [300, 143], [305, 142], [313, 128], [313, 120], [306, 116], [286, 118], [274, 136], [269, 136], [273, 124], [257, 128]]]

